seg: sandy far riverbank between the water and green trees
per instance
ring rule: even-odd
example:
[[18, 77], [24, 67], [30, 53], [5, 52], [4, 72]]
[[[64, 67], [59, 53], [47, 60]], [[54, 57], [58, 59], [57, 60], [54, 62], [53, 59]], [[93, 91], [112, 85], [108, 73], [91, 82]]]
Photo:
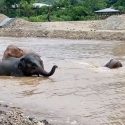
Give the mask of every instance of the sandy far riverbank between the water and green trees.
[[125, 15], [98, 21], [28, 22], [16, 19], [0, 36], [125, 40]]

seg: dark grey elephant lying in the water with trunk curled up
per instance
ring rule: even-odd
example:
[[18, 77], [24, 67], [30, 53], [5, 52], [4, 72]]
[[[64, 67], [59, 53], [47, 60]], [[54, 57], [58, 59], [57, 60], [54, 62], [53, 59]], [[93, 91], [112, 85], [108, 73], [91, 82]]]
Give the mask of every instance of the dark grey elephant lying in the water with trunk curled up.
[[0, 62], [0, 75], [4, 76], [33, 76], [42, 75], [49, 77], [54, 74], [57, 66], [54, 65], [50, 72], [44, 70], [43, 61], [35, 53], [28, 53], [20, 58], [9, 57]]

